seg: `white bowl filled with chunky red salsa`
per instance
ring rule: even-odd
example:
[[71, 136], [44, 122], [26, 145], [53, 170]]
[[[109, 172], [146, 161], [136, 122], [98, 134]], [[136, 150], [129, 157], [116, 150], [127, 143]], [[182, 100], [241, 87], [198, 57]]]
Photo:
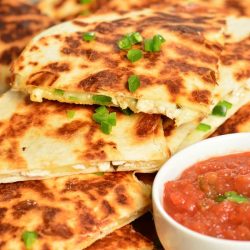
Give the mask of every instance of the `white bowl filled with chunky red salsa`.
[[214, 137], [169, 159], [153, 184], [169, 250], [250, 249], [250, 133]]

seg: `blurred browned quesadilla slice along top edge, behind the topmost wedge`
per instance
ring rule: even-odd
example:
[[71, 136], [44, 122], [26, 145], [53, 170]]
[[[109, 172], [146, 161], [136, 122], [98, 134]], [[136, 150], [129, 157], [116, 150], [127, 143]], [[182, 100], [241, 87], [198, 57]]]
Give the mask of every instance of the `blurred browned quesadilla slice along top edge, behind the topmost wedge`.
[[40, 0], [39, 9], [48, 16], [57, 20], [69, 20], [78, 15], [88, 15], [97, 12], [118, 12], [124, 13], [146, 7], [169, 8], [170, 6], [184, 5], [189, 9], [203, 6], [210, 10], [218, 8], [227, 15], [250, 16], [250, 7], [247, 1], [237, 0]]

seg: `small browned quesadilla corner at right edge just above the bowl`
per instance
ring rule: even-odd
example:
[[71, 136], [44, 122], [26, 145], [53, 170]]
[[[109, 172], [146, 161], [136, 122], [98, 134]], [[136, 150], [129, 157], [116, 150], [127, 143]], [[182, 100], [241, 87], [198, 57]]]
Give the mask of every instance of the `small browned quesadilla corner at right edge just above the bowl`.
[[250, 132], [250, 103], [241, 107], [232, 117], [217, 128], [211, 137], [241, 132]]

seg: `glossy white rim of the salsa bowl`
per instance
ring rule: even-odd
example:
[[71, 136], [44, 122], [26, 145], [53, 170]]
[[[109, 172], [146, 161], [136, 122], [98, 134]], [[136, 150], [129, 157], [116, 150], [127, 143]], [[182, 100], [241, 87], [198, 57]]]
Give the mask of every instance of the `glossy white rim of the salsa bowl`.
[[[240, 247], [240, 246], [250, 246], [250, 241], [241, 241], [241, 240], [229, 240], [229, 239], [221, 239], [221, 238], [216, 238], [213, 236], [208, 236], [205, 234], [201, 234], [198, 233], [196, 231], [193, 231], [191, 229], [189, 229], [188, 227], [183, 226], [182, 224], [180, 224], [179, 222], [177, 222], [176, 220], [174, 220], [163, 208], [162, 202], [161, 202], [161, 197], [160, 197], [160, 192], [159, 192], [159, 188], [161, 187], [161, 174], [163, 172], [166, 171], [167, 166], [169, 164], [172, 164], [172, 162], [174, 162], [177, 158], [181, 157], [181, 155], [187, 151], [190, 150], [195, 150], [195, 148], [202, 146], [203, 144], [210, 144], [210, 143], [216, 143], [217, 141], [221, 141], [224, 140], [225, 138], [227, 139], [236, 139], [238, 137], [247, 137], [250, 138], [250, 132], [244, 132], [244, 133], [233, 133], [233, 134], [226, 134], [226, 135], [220, 135], [220, 136], [216, 136], [216, 137], [212, 137], [212, 138], [208, 138], [205, 140], [202, 140], [200, 142], [197, 142], [191, 146], [188, 146], [185, 149], [182, 149], [181, 151], [179, 151], [178, 153], [176, 153], [175, 155], [173, 155], [169, 160], [167, 160], [163, 166], [161, 167], [161, 169], [159, 170], [159, 172], [157, 173], [154, 182], [153, 182], [153, 188], [152, 188], [152, 200], [153, 200], [153, 205], [154, 207], [156, 206], [158, 212], [161, 214], [161, 216], [164, 218], [164, 220], [168, 221], [172, 226], [174, 226], [177, 230], [182, 231], [183, 233], [185, 233], [188, 236], [191, 236], [193, 238], [199, 239], [199, 240], [203, 240], [203, 241], [210, 241], [210, 242], [214, 242], [217, 244], [223, 244], [223, 245], [232, 245], [234, 244], [236, 247]], [[243, 151], [242, 151], [243, 152]], [[237, 153], [237, 152], [236, 152]], [[238, 152], [240, 153], [240, 152]], [[232, 154], [231, 152], [229, 152], [229, 154]], [[221, 154], [222, 155], [226, 155], [226, 154]], [[219, 156], [219, 155], [218, 155]], [[212, 156], [210, 156], [209, 158], [211, 158]], [[209, 159], [208, 158], [208, 159]], [[190, 166], [189, 166], [190, 167]], [[187, 167], [188, 168], [188, 167]], [[165, 183], [165, 182], [164, 182]], [[163, 184], [162, 184], [163, 185]], [[155, 209], [155, 208], [154, 208]]]

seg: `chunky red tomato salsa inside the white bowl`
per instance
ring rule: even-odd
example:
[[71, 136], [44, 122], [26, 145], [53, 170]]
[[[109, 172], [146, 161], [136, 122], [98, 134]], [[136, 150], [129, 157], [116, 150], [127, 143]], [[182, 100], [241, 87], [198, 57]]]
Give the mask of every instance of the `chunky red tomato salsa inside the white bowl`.
[[205, 235], [250, 240], [250, 152], [196, 163], [165, 184], [164, 208]]

